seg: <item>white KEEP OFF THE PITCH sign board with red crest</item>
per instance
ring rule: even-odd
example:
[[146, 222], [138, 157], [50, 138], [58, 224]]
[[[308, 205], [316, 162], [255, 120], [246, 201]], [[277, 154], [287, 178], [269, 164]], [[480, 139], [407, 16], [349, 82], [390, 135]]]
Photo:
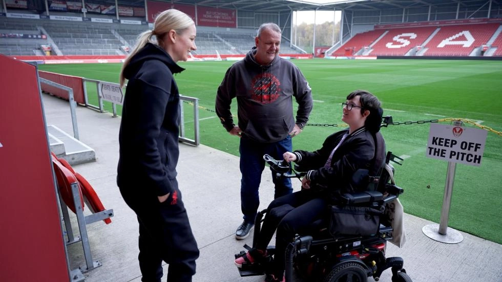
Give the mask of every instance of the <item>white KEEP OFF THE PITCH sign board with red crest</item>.
[[425, 154], [432, 159], [479, 166], [487, 133], [484, 129], [431, 123]]

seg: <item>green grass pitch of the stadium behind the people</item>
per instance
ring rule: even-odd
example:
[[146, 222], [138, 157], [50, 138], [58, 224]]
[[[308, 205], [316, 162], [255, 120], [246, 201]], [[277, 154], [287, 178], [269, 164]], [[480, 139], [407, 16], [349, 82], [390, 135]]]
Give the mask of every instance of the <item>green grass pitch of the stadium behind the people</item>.
[[[182, 95], [199, 98], [200, 141], [239, 155], [238, 140], [214, 113], [216, 89], [231, 61], [180, 62], [176, 75]], [[311, 124], [342, 124], [341, 102], [365, 89], [383, 103], [384, 115], [396, 121], [466, 118], [502, 131], [502, 61], [480, 60], [294, 60], [312, 88]], [[40, 70], [118, 82], [120, 64], [40, 65]], [[95, 86], [87, 85], [97, 104]], [[106, 104], [111, 111], [111, 106]], [[120, 112], [120, 106], [118, 107]], [[193, 132], [191, 105], [184, 104], [185, 130]], [[236, 114], [236, 105], [233, 103]], [[447, 162], [425, 156], [429, 123], [382, 128], [387, 149], [408, 156], [396, 165], [396, 183], [405, 212], [438, 223]], [[472, 126], [472, 125], [467, 125]], [[306, 126], [295, 137], [295, 149], [314, 150], [343, 127]], [[192, 138], [190, 136], [187, 136]], [[489, 132], [479, 167], [456, 165], [448, 226], [502, 244], [502, 136]], [[239, 186], [236, 183], [236, 189]]]

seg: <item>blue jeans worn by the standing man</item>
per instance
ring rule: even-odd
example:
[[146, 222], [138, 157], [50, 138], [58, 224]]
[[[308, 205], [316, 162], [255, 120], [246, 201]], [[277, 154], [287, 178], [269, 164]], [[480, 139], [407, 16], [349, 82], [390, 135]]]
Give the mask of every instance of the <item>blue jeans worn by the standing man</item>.
[[[292, 141], [289, 135], [275, 143], [259, 143], [245, 138], [240, 139], [241, 210], [245, 222], [255, 222], [258, 206], [260, 205], [258, 188], [265, 168], [263, 155], [268, 154], [276, 160], [282, 160], [282, 155], [286, 151], [292, 151]], [[274, 198], [292, 193], [291, 179], [278, 178], [274, 171], [271, 174], [275, 185]]]

